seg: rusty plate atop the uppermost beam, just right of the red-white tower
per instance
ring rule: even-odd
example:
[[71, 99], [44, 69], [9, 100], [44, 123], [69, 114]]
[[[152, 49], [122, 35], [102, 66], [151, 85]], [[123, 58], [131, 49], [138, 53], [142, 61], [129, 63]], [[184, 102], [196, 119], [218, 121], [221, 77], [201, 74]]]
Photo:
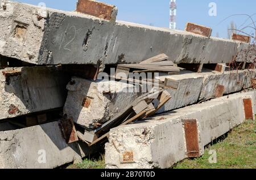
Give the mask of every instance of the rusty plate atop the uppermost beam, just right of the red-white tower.
[[185, 31], [196, 33], [197, 35], [202, 35], [206, 37], [210, 37], [212, 35], [212, 29], [208, 27], [204, 27], [202, 25], [187, 23], [185, 27]]

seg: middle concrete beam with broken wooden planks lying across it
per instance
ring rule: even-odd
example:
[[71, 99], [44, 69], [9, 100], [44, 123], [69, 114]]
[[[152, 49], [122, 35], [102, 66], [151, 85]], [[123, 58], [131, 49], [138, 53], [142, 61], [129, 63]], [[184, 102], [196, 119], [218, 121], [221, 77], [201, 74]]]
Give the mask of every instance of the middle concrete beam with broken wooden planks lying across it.
[[[251, 79], [255, 78], [255, 70], [239, 70], [225, 72], [181, 71], [179, 75], [160, 75], [156, 77], [164, 81], [166, 78], [179, 82], [177, 89], [166, 88], [171, 99], [158, 113], [168, 112], [201, 100], [214, 98], [218, 85], [224, 86], [222, 95], [239, 92], [251, 87]], [[109, 121], [118, 115], [121, 109], [133, 102], [140, 93], [129, 91], [133, 85], [122, 82], [91, 82], [81, 78], [72, 78], [68, 84], [68, 97], [64, 106], [64, 114], [73, 121], [88, 128]], [[84, 106], [86, 100], [89, 102]]]

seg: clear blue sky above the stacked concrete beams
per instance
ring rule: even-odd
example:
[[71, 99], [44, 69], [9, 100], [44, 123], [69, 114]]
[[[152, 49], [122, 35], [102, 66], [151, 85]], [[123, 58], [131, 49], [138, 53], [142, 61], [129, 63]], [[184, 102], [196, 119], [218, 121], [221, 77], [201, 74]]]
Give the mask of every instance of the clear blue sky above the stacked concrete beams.
[[[212, 36], [217, 33], [220, 37], [227, 37], [227, 29], [230, 22], [234, 21], [240, 27], [247, 19], [246, 16], [232, 16], [234, 14], [253, 15], [256, 21], [256, 1], [255, 0], [176, 0], [177, 1], [177, 28], [184, 29], [187, 22], [197, 23], [211, 27]], [[75, 10], [77, 0], [19, 0], [33, 5], [39, 2], [46, 3], [47, 7], [59, 10]], [[102, 0], [118, 7], [118, 20], [128, 22], [151, 24], [157, 27], [169, 26], [169, 0]], [[217, 5], [217, 16], [209, 16], [209, 3]], [[222, 23], [220, 23], [222, 22]], [[248, 20], [247, 24], [251, 22]], [[243, 26], [245, 26], [243, 25]], [[252, 24], [251, 24], [252, 25]], [[253, 29], [247, 28], [246, 33], [251, 33]]]

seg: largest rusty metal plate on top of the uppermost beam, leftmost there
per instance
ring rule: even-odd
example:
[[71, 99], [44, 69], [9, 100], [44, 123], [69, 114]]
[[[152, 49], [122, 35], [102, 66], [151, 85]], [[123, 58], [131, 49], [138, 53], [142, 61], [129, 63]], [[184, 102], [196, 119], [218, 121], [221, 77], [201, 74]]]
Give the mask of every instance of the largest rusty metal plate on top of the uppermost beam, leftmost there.
[[79, 0], [76, 11], [96, 16], [101, 19], [111, 20], [114, 6], [91, 0]]

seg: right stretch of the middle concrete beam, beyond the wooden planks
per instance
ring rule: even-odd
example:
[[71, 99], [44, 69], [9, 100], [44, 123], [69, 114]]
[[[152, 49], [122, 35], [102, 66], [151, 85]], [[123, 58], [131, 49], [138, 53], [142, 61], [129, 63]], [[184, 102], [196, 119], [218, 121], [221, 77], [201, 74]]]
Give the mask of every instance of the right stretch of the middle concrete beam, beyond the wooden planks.
[[179, 82], [179, 87], [177, 89], [166, 89], [172, 98], [158, 113], [167, 112], [195, 104], [201, 100], [213, 98], [218, 84], [224, 85], [224, 95], [250, 88], [251, 78], [254, 77], [255, 70], [225, 72], [204, 70], [201, 73], [181, 70], [179, 75], [160, 75], [156, 78], [162, 81], [164, 81], [165, 78], [176, 80]]

